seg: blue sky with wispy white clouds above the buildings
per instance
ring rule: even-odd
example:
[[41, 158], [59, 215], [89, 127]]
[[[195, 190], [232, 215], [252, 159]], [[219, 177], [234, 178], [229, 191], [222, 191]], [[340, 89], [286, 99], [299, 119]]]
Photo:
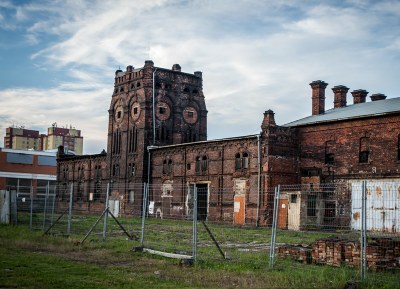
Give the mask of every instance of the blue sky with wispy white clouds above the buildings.
[[[80, 129], [106, 149], [115, 70], [203, 72], [208, 139], [311, 114], [309, 83], [400, 97], [400, 1], [0, 0], [0, 147], [5, 130]], [[369, 98], [368, 98], [369, 99]]]

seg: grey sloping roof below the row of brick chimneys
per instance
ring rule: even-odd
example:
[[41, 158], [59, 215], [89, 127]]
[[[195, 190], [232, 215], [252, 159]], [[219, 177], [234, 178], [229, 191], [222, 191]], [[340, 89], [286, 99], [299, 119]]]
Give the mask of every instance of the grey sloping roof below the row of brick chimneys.
[[352, 104], [341, 108], [332, 108], [323, 114], [311, 115], [283, 126], [302, 126], [324, 122], [357, 119], [400, 112], [400, 97]]

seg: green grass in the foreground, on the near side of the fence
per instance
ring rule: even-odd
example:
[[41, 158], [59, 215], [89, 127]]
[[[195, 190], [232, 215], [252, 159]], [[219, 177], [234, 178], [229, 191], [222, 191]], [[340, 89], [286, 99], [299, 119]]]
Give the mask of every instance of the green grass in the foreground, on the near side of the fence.
[[[260, 233], [252, 230], [240, 235]], [[126, 238], [91, 238], [79, 244], [81, 239], [0, 226], [0, 288], [347, 288], [357, 278], [352, 268], [289, 260], [279, 260], [269, 269], [264, 253], [252, 254], [251, 259], [199, 258], [194, 266], [185, 266], [175, 259], [134, 252], [137, 242]], [[400, 288], [399, 275], [369, 276], [355, 283], [358, 288]]]

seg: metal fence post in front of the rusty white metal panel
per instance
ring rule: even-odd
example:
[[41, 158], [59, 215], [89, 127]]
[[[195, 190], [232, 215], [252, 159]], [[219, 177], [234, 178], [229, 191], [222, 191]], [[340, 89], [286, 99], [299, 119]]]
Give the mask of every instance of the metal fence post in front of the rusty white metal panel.
[[367, 182], [361, 183], [361, 279], [365, 280], [367, 272]]

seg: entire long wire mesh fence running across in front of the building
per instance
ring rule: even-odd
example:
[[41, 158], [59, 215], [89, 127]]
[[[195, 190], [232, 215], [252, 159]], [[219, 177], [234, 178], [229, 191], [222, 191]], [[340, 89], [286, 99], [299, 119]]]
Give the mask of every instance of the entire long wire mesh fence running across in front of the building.
[[381, 272], [399, 278], [396, 180], [277, 186], [255, 199], [249, 195], [257, 192], [208, 183], [47, 184], [7, 192], [11, 223], [80, 242], [116, 238], [181, 259], [310, 272], [323, 265], [353, 279]]

